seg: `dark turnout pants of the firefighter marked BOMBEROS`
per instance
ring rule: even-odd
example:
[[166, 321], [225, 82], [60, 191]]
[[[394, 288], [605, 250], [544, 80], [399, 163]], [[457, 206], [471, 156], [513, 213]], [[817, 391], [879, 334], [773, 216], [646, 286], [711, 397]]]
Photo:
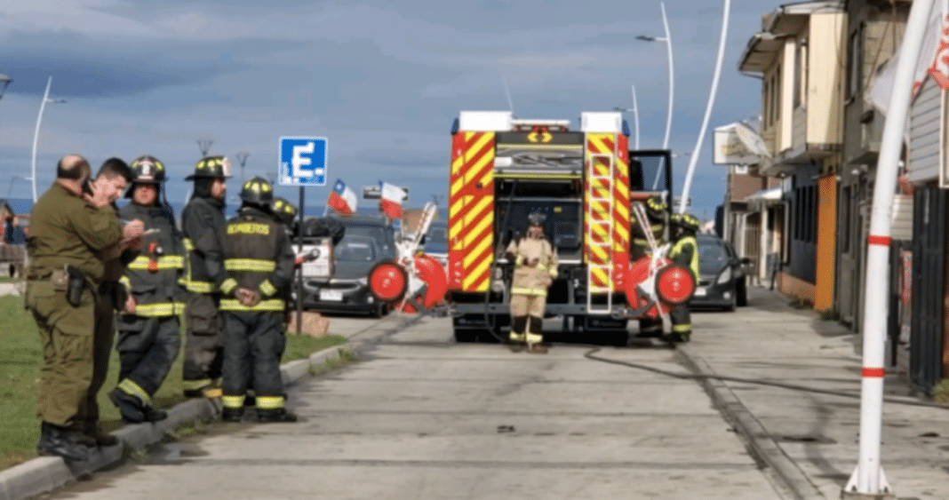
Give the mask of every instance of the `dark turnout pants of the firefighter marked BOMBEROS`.
[[[225, 408], [244, 407], [249, 388], [258, 410], [284, 408], [284, 383], [280, 358], [286, 346], [281, 312], [225, 312], [222, 403]], [[253, 380], [253, 387], [249, 384]]]

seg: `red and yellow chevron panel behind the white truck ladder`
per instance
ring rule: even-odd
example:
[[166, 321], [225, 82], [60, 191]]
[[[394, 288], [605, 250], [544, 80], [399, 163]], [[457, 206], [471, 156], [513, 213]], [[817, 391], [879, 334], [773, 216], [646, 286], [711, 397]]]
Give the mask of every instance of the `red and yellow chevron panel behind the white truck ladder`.
[[[609, 273], [606, 269], [593, 268], [591, 287], [606, 287], [623, 289], [624, 270], [629, 260], [629, 158], [628, 139], [615, 134], [586, 134], [586, 189], [584, 190], [584, 226], [585, 231], [592, 233], [585, 243], [584, 258], [587, 264], [612, 264], [613, 279], [609, 282]], [[609, 158], [594, 157], [593, 155], [609, 155], [613, 157], [613, 169], [610, 169]], [[595, 178], [594, 176], [611, 176], [613, 189], [609, 189], [610, 180]], [[592, 189], [590, 189], [592, 188]], [[612, 198], [610, 203], [605, 200], [591, 200], [590, 193], [597, 198]], [[612, 218], [612, 231], [610, 228]], [[586, 229], [591, 231], [586, 231]], [[610, 246], [597, 245], [610, 243]]]

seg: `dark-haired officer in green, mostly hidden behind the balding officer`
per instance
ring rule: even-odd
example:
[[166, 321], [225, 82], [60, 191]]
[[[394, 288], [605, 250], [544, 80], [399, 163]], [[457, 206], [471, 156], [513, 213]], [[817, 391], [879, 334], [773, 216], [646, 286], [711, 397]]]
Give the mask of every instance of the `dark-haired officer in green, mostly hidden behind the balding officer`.
[[[126, 183], [132, 180], [132, 171], [128, 164], [118, 157], [110, 157], [102, 162], [102, 167], [96, 174], [92, 184], [99, 189], [109, 190], [112, 195], [110, 205], [119, 216], [119, 208], [115, 200], [119, 198]], [[131, 219], [129, 219], [131, 220]], [[141, 222], [136, 222], [140, 224]], [[109, 359], [112, 356], [112, 343], [115, 341], [115, 314], [125, 304], [125, 287], [121, 286], [120, 279], [125, 266], [139, 255], [141, 238], [126, 242], [126, 245], [113, 245], [98, 254], [102, 260], [102, 283], [99, 285], [99, 301], [96, 303], [96, 325], [93, 334], [93, 364], [92, 383], [86, 394], [85, 404], [81, 409], [84, 418], [85, 435], [97, 446], [114, 446], [119, 439], [114, 435], [103, 433], [99, 429], [99, 390], [108, 376]]]

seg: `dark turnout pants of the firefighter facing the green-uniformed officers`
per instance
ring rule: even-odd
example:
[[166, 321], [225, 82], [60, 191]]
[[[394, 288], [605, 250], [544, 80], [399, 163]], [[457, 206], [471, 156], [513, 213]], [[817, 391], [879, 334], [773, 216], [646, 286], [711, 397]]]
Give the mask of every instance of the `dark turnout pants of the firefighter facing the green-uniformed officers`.
[[151, 405], [181, 345], [177, 316], [122, 315], [119, 323], [119, 388]]

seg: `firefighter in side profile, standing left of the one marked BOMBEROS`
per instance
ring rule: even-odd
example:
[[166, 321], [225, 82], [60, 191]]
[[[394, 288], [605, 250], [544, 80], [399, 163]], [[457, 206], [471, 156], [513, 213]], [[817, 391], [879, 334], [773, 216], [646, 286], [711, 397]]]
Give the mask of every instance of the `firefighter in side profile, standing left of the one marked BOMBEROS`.
[[204, 157], [195, 165], [195, 173], [185, 180], [195, 181], [195, 192], [181, 213], [184, 237], [185, 303], [187, 337], [184, 344], [182, 382], [186, 398], [219, 398], [221, 390], [214, 380], [221, 376], [223, 326], [217, 310], [220, 293], [215, 283], [224, 280], [221, 231], [224, 219], [225, 181], [231, 176], [227, 157]]

